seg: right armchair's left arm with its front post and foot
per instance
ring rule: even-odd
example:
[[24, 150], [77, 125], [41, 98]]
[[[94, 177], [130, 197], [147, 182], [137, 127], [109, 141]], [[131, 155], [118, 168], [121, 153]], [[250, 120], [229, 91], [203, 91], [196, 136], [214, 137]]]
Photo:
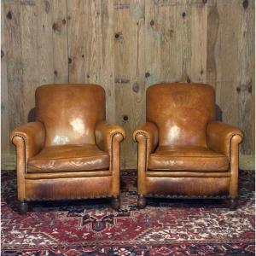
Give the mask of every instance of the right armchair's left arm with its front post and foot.
[[146, 206], [146, 172], [148, 168], [149, 154], [154, 152], [158, 144], [158, 129], [152, 122], [147, 122], [137, 127], [133, 132], [133, 139], [138, 143], [137, 148], [137, 188], [138, 201], [140, 208]]

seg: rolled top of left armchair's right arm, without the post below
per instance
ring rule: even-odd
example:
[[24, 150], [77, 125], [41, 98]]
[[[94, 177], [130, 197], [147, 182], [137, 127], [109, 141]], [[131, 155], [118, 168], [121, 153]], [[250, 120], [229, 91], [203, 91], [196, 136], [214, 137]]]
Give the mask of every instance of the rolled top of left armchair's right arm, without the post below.
[[119, 125], [112, 125], [106, 121], [100, 121], [96, 124], [96, 145], [105, 152], [111, 153], [113, 140], [119, 143], [125, 138], [125, 130]]

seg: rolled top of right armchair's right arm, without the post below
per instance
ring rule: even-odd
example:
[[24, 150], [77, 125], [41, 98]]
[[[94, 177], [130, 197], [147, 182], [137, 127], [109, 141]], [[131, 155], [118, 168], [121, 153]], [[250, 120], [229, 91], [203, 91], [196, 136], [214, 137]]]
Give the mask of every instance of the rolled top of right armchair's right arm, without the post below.
[[229, 160], [231, 146], [238, 146], [243, 139], [240, 129], [222, 122], [212, 121], [207, 125], [207, 146], [212, 150], [225, 154]]

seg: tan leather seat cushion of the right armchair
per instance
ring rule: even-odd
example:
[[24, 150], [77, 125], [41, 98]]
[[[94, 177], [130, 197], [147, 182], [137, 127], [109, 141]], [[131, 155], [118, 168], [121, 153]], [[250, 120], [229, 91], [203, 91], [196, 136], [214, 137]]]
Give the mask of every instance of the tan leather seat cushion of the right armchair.
[[229, 159], [210, 148], [160, 146], [149, 155], [148, 170], [227, 171]]

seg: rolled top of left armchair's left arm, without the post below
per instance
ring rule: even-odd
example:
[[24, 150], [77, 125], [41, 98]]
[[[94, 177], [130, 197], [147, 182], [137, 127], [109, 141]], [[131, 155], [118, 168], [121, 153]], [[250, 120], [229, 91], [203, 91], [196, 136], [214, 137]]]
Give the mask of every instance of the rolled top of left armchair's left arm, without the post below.
[[25, 146], [26, 160], [44, 147], [45, 128], [41, 122], [31, 122], [16, 128], [11, 132], [10, 140], [18, 148], [21, 144]]

